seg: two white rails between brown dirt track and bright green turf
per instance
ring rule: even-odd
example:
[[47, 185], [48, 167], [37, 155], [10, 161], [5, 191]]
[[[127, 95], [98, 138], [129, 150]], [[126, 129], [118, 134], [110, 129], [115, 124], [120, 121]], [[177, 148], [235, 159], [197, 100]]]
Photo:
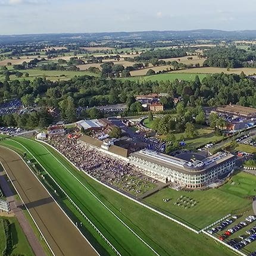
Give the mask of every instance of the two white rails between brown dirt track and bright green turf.
[[[12, 139], [7, 139], [10, 141], [13, 141]], [[29, 149], [26, 148], [26, 146], [22, 145], [20, 142], [18, 141], [13, 141], [15, 143], [20, 144], [21, 146], [23, 146], [24, 149], [26, 149], [30, 155], [32, 155], [32, 157], [35, 158], [35, 160], [38, 162], [38, 164], [40, 165], [40, 167], [43, 168], [43, 170], [45, 170], [45, 168], [39, 163], [39, 161], [37, 160], [37, 158], [29, 151]], [[13, 149], [10, 149], [13, 151]], [[15, 151], [14, 151], [15, 152]], [[16, 153], [16, 152], [15, 152]], [[16, 153], [17, 154], [17, 153]], [[24, 160], [23, 160], [24, 161]], [[27, 165], [27, 163], [24, 161], [24, 163], [26, 164], [27, 167], [29, 167]], [[33, 171], [30, 169], [29, 170], [33, 173]], [[96, 230], [96, 232], [99, 233], [99, 235], [101, 236], [101, 238], [104, 239], [105, 242], [109, 243], [110, 248], [113, 249], [113, 251], [118, 255], [121, 256], [121, 254], [117, 251], [117, 249], [114, 248], [114, 246], [107, 240], [107, 238], [105, 238], [105, 236], [97, 229], [97, 227], [92, 223], [92, 221], [89, 220], [89, 218], [82, 212], [82, 210], [80, 210], [80, 208], [73, 202], [73, 200], [67, 195], [67, 193], [65, 193], [65, 191], [61, 188], [60, 185], [58, 185], [57, 182], [55, 182], [55, 180], [52, 178], [52, 176], [48, 173], [48, 171], [45, 170], [45, 172], [48, 174], [48, 176], [52, 179], [52, 181], [55, 183], [55, 185], [58, 186], [59, 189], [61, 189], [61, 191], [64, 193], [65, 196], [67, 196], [67, 199], [71, 202], [71, 204], [79, 211], [80, 214], [82, 214], [82, 216], [89, 222], [90, 225], [92, 225], [92, 227]], [[36, 174], [33, 173], [33, 175], [36, 177]], [[38, 177], [36, 177], [36, 179], [38, 179]], [[40, 184], [43, 186], [43, 188], [45, 188], [45, 186], [42, 184], [42, 182], [38, 179], [38, 181], [40, 182]], [[49, 193], [49, 191], [45, 188], [45, 190]], [[96, 254], [99, 255], [99, 253], [96, 251], [96, 249], [90, 244], [90, 242], [88, 241], [88, 239], [85, 237], [85, 235], [83, 235], [83, 233], [81, 232], [81, 230], [76, 226], [76, 224], [73, 223], [73, 221], [71, 220], [70, 217], [68, 217], [68, 215], [65, 213], [65, 211], [63, 210], [63, 208], [60, 207], [60, 205], [58, 204], [58, 202], [53, 198], [53, 196], [51, 195], [51, 193], [49, 193], [49, 195], [51, 196], [51, 198], [56, 202], [56, 204], [58, 205], [58, 207], [61, 209], [61, 211], [63, 211], [63, 213], [65, 214], [65, 216], [68, 218], [68, 220], [71, 221], [71, 223], [74, 225], [74, 227], [76, 227], [77, 230], [79, 230], [80, 234], [83, 236], [83, 238], [86, 239], [86, 241], [89, 243], [89, 245], [95, 250]], [[100, 256], [100, 255], [99, 255]]]

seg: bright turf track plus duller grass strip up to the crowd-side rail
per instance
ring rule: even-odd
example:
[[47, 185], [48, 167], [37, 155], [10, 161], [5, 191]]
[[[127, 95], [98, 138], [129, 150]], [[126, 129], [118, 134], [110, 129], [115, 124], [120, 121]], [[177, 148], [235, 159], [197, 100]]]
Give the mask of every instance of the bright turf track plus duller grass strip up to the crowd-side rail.
[[[152, 255], [133, 234], [120, 224], [106, 208], [102, 207], [95, 198], [83, 187], [77, 179], [86, 185], [98, 198], [104, 202], [121, 220], [131, 227], [143, 240], [149, 243], [158, 254], [162, 255], [233, 255], [233, 252], [220, 243], [216, 243], [204, 235], [196, 235], [193, 232], [173, 223], [170, 220], [142, 207], [116, 192], [99, 185], [86, 174], [75, 170], [70, 164], [53, 149], [54, 154], [68, 169], [65, 169], [55, 158], [40, 144], [15, 138], [27, 146], [36, 155], [40, 163], [51, 172], [52, 176], [60, 182], [65, 191], [72, 196], [85, 214], [90, 217], [98, 229], [113, 242], [114, 246], [122, 252], [122, 255]], [[15, 142], [1, 141], [4, 145], [17, 147], [24, 151], [21, 145]], [[121, 212], [120, 212], [121, 209]], [[114, 255], [114, 254], [113, 254]]]

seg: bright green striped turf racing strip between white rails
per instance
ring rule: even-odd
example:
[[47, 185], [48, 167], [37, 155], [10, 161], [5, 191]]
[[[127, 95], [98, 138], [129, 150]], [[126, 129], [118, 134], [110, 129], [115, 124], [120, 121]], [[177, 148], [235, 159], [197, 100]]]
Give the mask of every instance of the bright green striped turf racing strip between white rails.
[[77, 206], [89, 217], [90, 221], [112, 243], [121, 255], [155, 255], [131, 230], [114, 216], [95, 196], [77, 182], [70, 172], [39, 143], [16, 138], [42, 164], [54, 180], [64, 189]]

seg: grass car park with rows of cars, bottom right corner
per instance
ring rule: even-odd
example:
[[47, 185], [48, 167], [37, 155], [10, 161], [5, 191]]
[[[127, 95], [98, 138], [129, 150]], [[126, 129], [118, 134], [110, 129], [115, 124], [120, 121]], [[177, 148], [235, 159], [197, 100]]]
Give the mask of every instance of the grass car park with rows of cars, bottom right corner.
[[256, 216], [252, 214], [232, 216], [207, 232], [248, 255], [256, 251]]

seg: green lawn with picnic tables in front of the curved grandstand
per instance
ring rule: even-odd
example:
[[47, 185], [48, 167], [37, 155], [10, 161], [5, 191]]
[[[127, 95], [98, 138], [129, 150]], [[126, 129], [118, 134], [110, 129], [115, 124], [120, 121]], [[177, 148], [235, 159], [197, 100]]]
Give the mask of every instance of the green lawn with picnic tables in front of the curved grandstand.
[[[238, 173], [225, 185], [207, 191], [176, 191], [166, 188], [145, 199], [164, 213], [183, 219], [199, 229], [213, 223], [229, 213], [242, 213], [252, 209], [252, 202], [245, 197], [256, 195], [256, 177], [247, 173]], [[180, 196], [189, 196], [197, 202], [188, 209], [174, 205]], [[169, 202], [163, 199], [170, 198]]]

